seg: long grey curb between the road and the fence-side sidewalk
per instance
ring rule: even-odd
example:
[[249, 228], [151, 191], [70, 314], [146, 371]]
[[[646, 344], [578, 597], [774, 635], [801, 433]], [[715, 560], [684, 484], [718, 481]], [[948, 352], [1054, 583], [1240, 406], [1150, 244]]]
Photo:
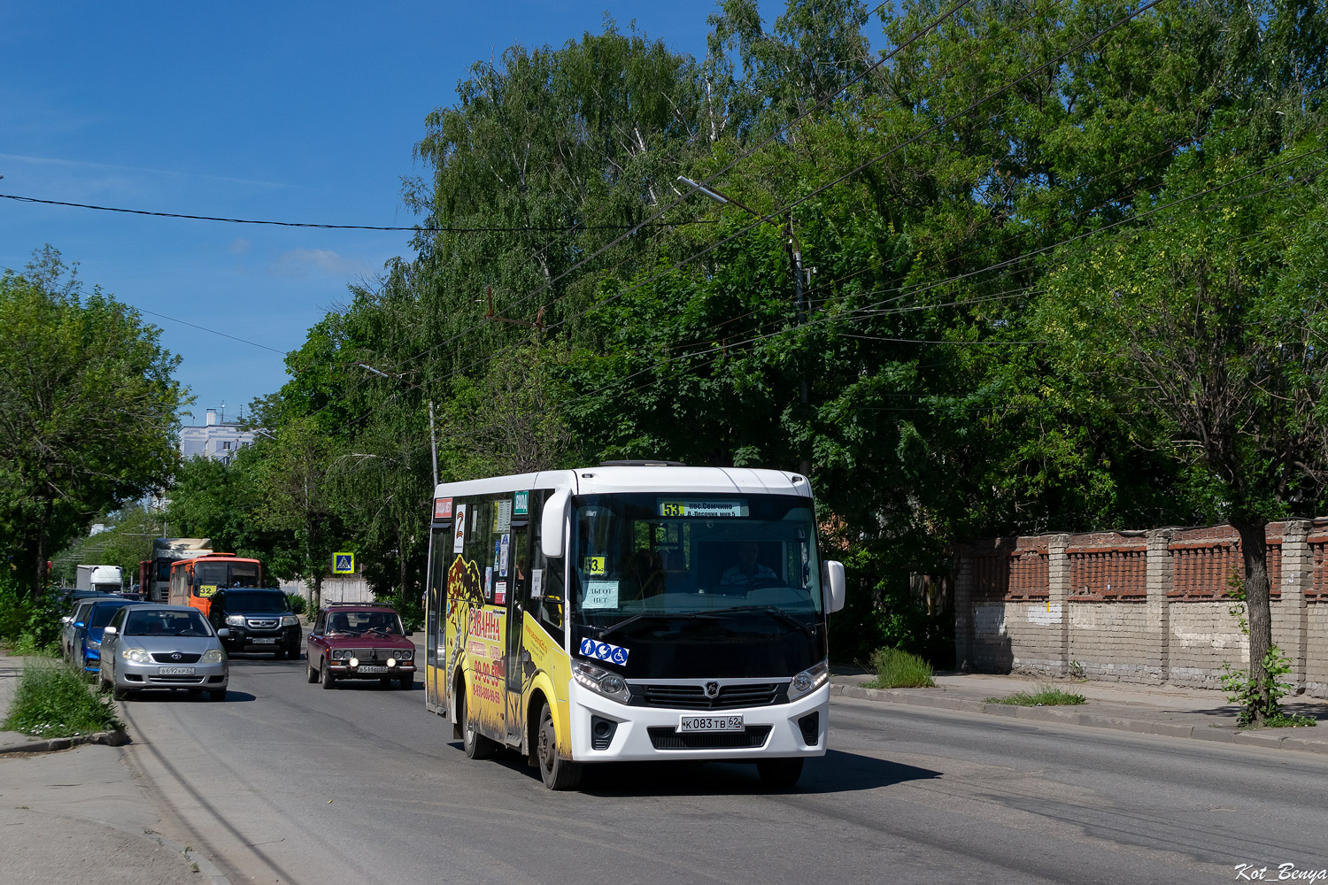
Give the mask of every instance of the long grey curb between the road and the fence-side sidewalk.
[[[1056, 707], [1017, 707], [1008, 703], [987, 703], [967, 698], [947, 698], [944, 695], [912, 694], [894, 689], [863, 689], [857, 685], [830, 683], [830, 697], [859, 698], [862, 701], [883, 701], [912, 707], [935, 710], [955, 710], [960, 713], [983, 713], [992, 716], [1029, 719], [1033, 722], [1054, 722], [1064, 726], [1086, 728], [1110, 728], [1131, 734], [1161, 735], [1165, 738], [1190, 738], [1211, 740], [1244, 747], [1270, 747], [1275, 750], [1296, 750], [1328, 755], [1328, 740], [1300, 738], [1291, 734], [1271, 734], [1270, 731], [1230, 731], [1211, 726], [1187, 726], [1175, 722], [1153, 722], [1150, 719], [1127, 719], [1100, 713], [1080, 713]], [[1275, 731], [1299, 731], [1299, 728], [1276, 728]]]

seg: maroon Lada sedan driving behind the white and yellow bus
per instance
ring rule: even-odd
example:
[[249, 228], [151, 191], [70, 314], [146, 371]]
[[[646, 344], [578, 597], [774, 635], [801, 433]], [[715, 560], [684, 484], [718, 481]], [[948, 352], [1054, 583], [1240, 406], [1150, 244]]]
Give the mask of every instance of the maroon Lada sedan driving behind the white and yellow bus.
[[309, 682], [324, 689], [341, 679], [378, 679], [414, 687], [414, 642], [386, 605], [340, 602], [319, 609], [307, 640]]

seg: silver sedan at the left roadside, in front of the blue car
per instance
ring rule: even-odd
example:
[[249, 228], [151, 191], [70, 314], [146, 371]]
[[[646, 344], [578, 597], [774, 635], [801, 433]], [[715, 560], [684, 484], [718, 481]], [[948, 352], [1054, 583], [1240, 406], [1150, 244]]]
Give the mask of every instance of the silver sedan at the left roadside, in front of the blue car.
[[116, 699], [145, 689], [187, 689], [195, 695], [206, 689], [210, 701], [224, 701], [230, 661], [198, 609], [126, 605], [106, 626], [98, 678]]

